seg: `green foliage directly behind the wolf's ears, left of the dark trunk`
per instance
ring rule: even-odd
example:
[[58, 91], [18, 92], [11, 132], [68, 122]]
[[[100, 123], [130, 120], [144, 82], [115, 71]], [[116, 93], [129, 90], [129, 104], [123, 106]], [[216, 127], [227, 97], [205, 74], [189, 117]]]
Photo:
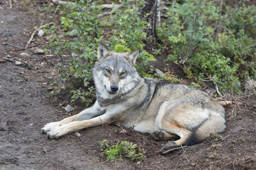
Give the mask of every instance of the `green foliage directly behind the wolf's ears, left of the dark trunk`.
[[[136, 3], [136, 5], [130, 5], [131, 2]], [[126, 0], [122, 1], [122, 3], [125, 5], [125, 10], [118, 10], [112, 16], [111, 22], [115, 25], [112, 29], [114, 33], [107, 43], [112, 51], [118, 53], [139, 49], [137, 69], [140, 73], [147, 75], [144, 73], [144, 69], [147, 63], [155, 60], [155, 58], [143, 49], [145, 45], [143, 40], [146, 38], [146, 33], [143, 32], [143, 29], [149, 27], [149, 23], [145, 20], [148, 14], [141, 19], [142, 16], [139, 10], [145, 4], [145, 1]]]

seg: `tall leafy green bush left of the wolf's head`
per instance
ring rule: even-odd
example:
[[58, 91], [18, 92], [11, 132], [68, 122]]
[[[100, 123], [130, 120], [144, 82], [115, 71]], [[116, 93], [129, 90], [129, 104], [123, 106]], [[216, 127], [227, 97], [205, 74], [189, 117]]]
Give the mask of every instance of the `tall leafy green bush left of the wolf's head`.
[[[98, 20], [100, 9], [92, 1], [81, 0], [69, 3], [65, 9], [66, 16], [61, 17], [60, 35], [54, 34], [56, 26], [47, 30], [48, 33], [54, 34], [50, 39], [48, 50], [53, 50], [54, 55], [57, 56], [69, 56], [67, 64], [58, 64], [61, 82], [55, 81], [54, 89], [56, 90], [53, 92], [60, 92], [62, 86], [60, 84], [67, 82], [68, 88], [71, 89], [70, 93], [73, 93], [72, 101], [81, 99], [81, 102], [86, 105], [92, 103], [92, 97], [94, 97], [94, 88], [91, 84], [92, 68], [97, 58], [98, 42], [102, 38], [100, 27], [103, 26], [103, 22]], [[70, 33], [76, 33], [77, 37], [67, 38]], [[63, 34], [65, 36], [62, 36]], [[83, 82], [83, 84], [76, 86], [76, 82]]]

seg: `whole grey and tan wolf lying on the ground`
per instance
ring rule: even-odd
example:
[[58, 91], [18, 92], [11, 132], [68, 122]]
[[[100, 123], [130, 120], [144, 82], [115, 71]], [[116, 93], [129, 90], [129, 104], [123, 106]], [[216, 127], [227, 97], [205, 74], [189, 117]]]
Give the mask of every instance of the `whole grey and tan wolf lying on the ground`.
[[160, 154], [179, 146], [204, 141], [211, 133], [223, 132], [225, 110], [202, 92], [182, 84], [141, 77], [134, 64], [139, 51], [115, 53], [100, 44], [94, 65], [95, 104], [62, 121], [47, 123], [48, 138], [102, 124], [120, 123], [156, 140], [170, 140]]

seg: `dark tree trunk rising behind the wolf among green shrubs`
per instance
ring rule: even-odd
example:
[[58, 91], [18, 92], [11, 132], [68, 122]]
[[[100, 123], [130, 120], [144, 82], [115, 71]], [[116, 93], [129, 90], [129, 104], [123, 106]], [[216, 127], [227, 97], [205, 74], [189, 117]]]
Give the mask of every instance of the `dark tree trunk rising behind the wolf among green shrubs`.
[[146, 0], [145, 5], [142, 6], [140, 9], [140, 13], [142, 17], [145, 17], [146, 14], [150, 14], [147, 16], [146, 21], [151, 25], [151, 27], [147, 28], [145, 32], [147, 33], [147, 37], [149, 38], [150, 42], [155, 44], [158, 38], [156, 32], [156, 16], [158, 10], [158, 0]]

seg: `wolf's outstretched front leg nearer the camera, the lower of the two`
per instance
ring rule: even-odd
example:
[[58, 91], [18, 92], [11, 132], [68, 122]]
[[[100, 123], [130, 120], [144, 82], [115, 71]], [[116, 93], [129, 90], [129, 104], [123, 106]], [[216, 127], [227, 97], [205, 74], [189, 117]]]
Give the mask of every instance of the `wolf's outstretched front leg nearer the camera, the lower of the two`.
[[109, 114], [103, 114], [98, 117], [94, 117], [85, 121], [72, 121], [63, 125], [58, 125], [53, 127], [49, 132], [47, 132], [48, 138], [59, 138], [64, 134], [68, 134], [75, 130], [81, 130], [87, 127], [93, 127], [97, 125], [103, 125], [106, 123], [111, 123], [111, 116]]

